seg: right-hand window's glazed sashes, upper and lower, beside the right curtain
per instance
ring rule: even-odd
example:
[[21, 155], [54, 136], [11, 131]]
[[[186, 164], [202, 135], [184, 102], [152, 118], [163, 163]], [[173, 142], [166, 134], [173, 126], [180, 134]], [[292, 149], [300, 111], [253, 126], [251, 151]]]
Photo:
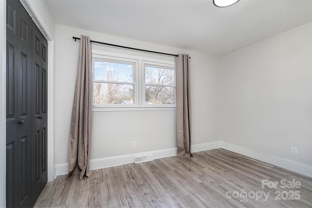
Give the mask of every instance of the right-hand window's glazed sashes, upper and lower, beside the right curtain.
[[145, 105], [175, 105], [175, 69], [168, 66], [144, 64]]

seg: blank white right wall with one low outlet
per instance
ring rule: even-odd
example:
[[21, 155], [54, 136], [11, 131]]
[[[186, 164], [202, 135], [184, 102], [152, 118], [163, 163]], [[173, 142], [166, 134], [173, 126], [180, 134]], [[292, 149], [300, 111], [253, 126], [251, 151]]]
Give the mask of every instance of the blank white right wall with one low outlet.
[[220, 140], [312, 164], [311, 31], [310, 22], [220, 58]]

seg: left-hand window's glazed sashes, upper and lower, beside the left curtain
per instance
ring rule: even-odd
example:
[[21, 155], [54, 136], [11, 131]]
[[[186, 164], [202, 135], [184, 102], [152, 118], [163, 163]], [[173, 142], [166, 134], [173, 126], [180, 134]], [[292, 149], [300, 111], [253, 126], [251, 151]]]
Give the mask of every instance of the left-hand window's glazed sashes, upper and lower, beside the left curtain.
[[93, 60], [93, 103], [135, 105], [135, 63]]

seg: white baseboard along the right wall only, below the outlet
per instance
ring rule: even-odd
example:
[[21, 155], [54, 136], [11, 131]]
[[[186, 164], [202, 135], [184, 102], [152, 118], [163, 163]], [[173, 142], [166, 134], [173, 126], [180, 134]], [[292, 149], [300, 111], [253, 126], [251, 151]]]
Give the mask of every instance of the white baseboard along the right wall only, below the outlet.
[[265, 153], [262, 151], [257, 151], [251, 148], [242, 147], [239, 145], [230, 144], [227, 142], [220, 142], [220, 148], [225, 150], [233, 151], [238, 154], [245, 155], [247, 157], [254, 158], [256, 160], [260, 160], [262, 162], [270, 163], [272, 165], [292, 170], [294, 172], [301, 173], [303, 175], [307, 175], [312, 177], [312, 166], [304, 163], [300, 163], [294, 160], [286, 159], [284, 157], [279, 157], [273, 154]]

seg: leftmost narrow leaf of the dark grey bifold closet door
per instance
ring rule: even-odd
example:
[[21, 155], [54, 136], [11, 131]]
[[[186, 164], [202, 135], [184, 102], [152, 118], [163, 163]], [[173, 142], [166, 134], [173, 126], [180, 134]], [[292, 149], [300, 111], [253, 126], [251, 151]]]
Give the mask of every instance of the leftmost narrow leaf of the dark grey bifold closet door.
[[18, 206], [17, 2], [6, 4], [6, 206]]

